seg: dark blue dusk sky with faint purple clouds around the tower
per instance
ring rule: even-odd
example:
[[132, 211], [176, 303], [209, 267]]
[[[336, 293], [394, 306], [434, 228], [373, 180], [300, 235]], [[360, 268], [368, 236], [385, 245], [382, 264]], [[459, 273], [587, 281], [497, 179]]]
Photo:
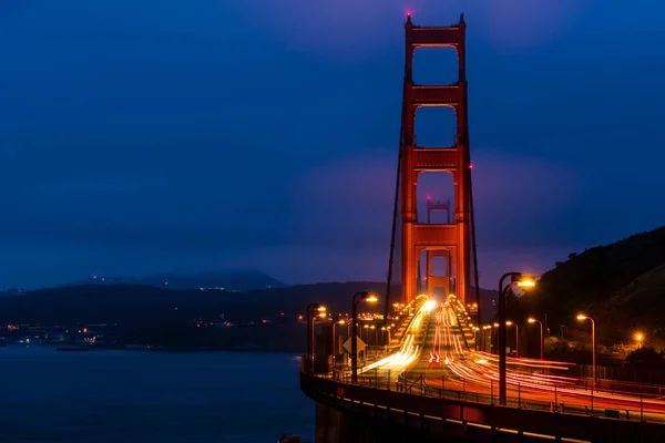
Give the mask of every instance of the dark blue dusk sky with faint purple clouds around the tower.
[[[484, 286], [661, 226], [661, 3], [3, 1], [0, 287], [383, 278], [407, 9], [419, 24], [466, 12]], [[416, 80], [451, 82], [453, 60], [419, 53]], [[453, 127], [426, 110], [418, 142]], [[446, 176], [420, 184], [450, 195]]]

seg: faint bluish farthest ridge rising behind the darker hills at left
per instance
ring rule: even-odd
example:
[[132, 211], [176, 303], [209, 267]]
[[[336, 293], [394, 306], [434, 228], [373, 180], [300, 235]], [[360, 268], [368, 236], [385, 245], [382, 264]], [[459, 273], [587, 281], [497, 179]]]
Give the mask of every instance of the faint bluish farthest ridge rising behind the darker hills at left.
[[95, 275], [76, 281], [74, 285], [149, 285], [163, 289], [219, 288], [235, 291], [285, 286], [282, 281], [254, 269], [229, 269], [193, 275], [162, 274], [145, 277]]

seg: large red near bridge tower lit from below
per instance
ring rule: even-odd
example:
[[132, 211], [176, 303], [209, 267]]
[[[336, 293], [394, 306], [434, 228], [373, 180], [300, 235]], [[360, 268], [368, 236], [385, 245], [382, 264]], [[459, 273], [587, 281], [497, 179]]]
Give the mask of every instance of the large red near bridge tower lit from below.
[[[440, 251], [447, 251], [452, 256], [456, 295], [464, 303], [471, 298], [471, 174], [466, 75], [467, 24], [462, 14], [459, 23], [451, 27], [416, 27], [409, 14], [405, 28], [407, 44], [402, 137], [400, 141], [401, 299], [402, 302], [409, 302], [417, 296], [420, 254], [422, 251], [429, 254], [443, 254]], [[459, 62], [458, 82], [447, 86], [415, 84], [412, 76], [413, 52], [419, 48], [453, 48], [457, 51]], [[421, 147], [416, 145], [416, 112], [422, 106], [449, 106], [453, 109], [457, 117], [457, 135], [453, 146]], [[452, 174], [454, 183], [453, 223], [418, 223], [416, 188], [418, 175], [421, 172]]]

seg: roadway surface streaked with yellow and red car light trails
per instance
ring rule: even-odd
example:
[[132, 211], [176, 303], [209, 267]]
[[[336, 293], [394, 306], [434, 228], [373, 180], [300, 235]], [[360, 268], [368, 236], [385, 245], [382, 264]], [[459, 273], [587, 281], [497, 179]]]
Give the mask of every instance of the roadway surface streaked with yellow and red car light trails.
[[[469, 316], [454, 298], [437, 303], [420, 300], [397, 350], [365, 367], [361, 373], [398, 380], [422, 394], [498, 403], [498, 356], [473, 351]], [[508, 358], [508, 403], [553, 412], [665, 420], [665, 399], [581, 387], [566, 377], [567, 363]]]

